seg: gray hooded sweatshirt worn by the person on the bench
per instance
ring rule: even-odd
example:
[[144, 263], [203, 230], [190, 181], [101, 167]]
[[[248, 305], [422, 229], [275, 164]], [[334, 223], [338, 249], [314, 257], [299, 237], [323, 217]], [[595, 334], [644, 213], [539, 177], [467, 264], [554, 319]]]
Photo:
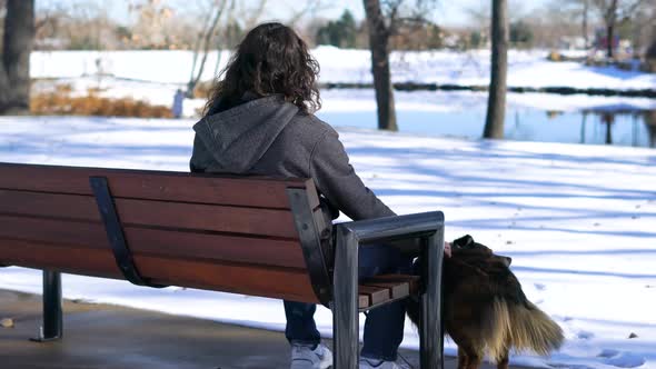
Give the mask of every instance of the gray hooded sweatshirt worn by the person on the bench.
[[332, 127], [281, 96], [243, 100], [193, 126], [192, 172], [311, 178], [331, 218], [395, 215], [356, 174]]

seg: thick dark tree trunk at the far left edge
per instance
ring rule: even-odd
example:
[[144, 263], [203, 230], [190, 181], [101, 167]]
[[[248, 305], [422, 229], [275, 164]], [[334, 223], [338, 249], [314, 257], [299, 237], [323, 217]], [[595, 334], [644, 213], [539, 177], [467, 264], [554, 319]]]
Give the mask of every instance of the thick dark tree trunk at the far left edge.
[[8, 0], [0, 62], [0, 114], [29, 112], [33, 41], [34, 0]]

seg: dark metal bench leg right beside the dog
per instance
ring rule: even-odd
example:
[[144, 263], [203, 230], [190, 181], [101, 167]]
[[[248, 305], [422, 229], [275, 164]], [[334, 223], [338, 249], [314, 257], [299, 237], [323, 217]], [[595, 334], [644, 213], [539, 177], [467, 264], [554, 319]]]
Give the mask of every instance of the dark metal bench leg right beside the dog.
[[421, 296], [421, 327], [419, 351], [421, 369], [444, 368], [444, 333], [441, 321], [441, 262], [444, 258], [444, 227], [427, 239], [423, 260], [426, 292]]

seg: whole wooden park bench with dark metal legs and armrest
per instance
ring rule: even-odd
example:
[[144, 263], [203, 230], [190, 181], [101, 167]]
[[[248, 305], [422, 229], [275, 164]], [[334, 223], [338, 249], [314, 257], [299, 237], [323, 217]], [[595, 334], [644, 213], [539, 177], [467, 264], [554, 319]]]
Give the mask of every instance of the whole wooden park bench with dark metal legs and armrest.
[[[358, 312], [417, 295], [421, 368], [441, 368], [443, 213], [330, 227], [309, 179], [0, 163], [0, 265], [43, 270], [42, 341], [62, 336], [66, 272], [321, 303], [335, 368], [355, 369]], [[359, 247], [410, 238], [419, 277], [358, 282]]]

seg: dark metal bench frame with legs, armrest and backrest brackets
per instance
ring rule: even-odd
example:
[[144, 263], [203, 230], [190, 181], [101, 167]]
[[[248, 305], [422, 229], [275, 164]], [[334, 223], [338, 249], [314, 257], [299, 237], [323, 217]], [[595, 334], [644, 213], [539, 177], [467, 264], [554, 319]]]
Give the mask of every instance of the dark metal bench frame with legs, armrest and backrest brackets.
[[[162, 287], [141, 278], [132, 261], [122, 226], [116, 211], [107, 178], [90, 177], [109, 243], [123, 277], [130, 282], [147, 287]], [[421, 368], [441, 369], [444, 351], [441, 266], [444, 258], [444, 215], [440, 211], [387, 217], [334, 226], [332, 238], [315, 218], [308, 192], [288, 188], [287, 195], [298, 231], [312, 290], [320, 301], [332, 310], [336, 369], [357, 369], [359, 361], [359, 312], [396, 301], [360, 309], [358, 293], [358, 249], [375, 242], [402, 239], [420, 240], [421, 301], [420, 362]], [[332, 258], [334, 255], [334, 258]], [[330, 260], [334, 260], [332, 269]], [[43, 270], [43, 325], [34, 341], [62, 338], [61, 273]], [[407, 298], [402, 297], [402, 298]], [[437, 327], [437, 329], [436, 329]]]

